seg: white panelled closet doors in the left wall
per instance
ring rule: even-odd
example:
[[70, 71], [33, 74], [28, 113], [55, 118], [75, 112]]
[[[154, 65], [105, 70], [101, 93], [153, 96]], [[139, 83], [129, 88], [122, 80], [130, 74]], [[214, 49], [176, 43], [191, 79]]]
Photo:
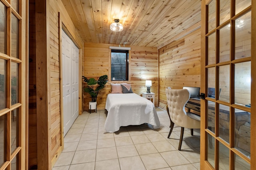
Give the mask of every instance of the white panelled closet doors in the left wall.
[[78, 56], [78, 48], [62, 30], [64, 136], [78, 117]]

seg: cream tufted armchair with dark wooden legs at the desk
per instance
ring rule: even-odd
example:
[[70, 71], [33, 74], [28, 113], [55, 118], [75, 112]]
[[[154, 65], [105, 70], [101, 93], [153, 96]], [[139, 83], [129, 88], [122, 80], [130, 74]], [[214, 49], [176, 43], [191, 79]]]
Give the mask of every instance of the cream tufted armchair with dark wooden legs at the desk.
[[200, 116], [193, 113], [186, 113], [185, 105], [190, 98], [190, 92], [187, 89], [171, 89], [166, 88], [167, 105], [166, 110], [170, 117], [171, 125], [168, 138], [172, 133], [174, 124], [181, 127], [180, 143], [178, 150], [181, 149], [184, 128], [190, 128], [191, 135], [193, 136], [193, 128], [200, 128]]

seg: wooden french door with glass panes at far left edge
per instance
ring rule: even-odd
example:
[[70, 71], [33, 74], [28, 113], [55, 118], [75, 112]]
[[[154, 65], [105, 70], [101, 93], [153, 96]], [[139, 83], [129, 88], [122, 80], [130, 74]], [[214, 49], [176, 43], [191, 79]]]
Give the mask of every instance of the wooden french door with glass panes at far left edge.
[[26, 0], [0, 0], [0, 170], [25, 169]]

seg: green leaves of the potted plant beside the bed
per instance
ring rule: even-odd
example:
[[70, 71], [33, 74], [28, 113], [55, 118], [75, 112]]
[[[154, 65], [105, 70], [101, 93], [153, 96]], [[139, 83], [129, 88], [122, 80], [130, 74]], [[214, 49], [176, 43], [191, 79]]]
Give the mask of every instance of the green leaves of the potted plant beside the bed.
[[[92, 97], [92, 102], [96, 102], [99, 91], [103, 89], [105, 84], [108, 82], [108, 75], [100, 76], [98, 81], [94, 78], [88, 79], [84, 76], [82, 76], [82, 79], [84, 79], [84, 82], [87, 83], [87, 87], [84, 88], [84, 92], [89, 93], [89, 95]], [[96, 86], [96, 84], [98, 84], [98, 86]]]

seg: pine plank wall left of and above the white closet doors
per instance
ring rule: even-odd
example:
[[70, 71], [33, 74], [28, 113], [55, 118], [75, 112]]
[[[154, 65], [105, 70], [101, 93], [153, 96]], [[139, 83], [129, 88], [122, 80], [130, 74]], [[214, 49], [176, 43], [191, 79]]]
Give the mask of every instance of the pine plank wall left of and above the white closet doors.
[[[58, 13], [60, 12], [60, 21]], [[58, 0], [50, 0], [49, 8], [49, 30], [50, 30], [50, 92], [51, 92], [51, 159], [52, 166], [56, 162], [61, 150], [61, 117], [60, 117], [60, 45], [59, 44], [59, 27], [64, 24], [66, 30], [72, 36], [72, 39], [78, 45], [83, 47], [83, 42], [74, 27], [68, 12], [62, 2]]]

